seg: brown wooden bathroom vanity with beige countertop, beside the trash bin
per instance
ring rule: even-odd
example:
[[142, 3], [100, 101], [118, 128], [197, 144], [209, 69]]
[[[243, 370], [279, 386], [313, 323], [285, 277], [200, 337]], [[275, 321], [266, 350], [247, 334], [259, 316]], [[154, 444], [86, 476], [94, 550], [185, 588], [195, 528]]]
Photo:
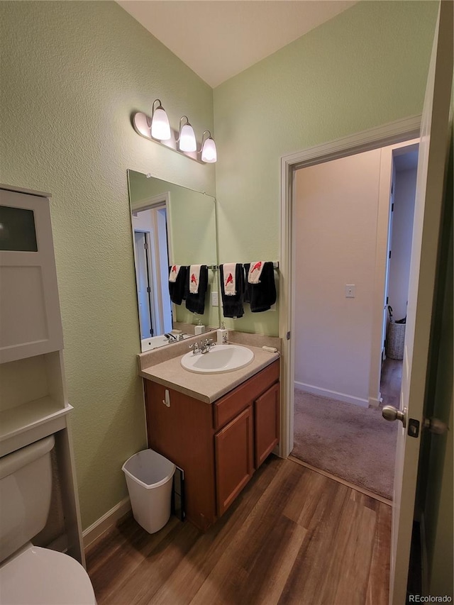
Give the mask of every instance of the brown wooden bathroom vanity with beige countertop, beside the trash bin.
[[184, 470], [186, 517], [202, 531], [279, 442], [279, 353], [250, 349], [233, 372], [187, 372], [181, 355], [140, 371], [148, 445]]

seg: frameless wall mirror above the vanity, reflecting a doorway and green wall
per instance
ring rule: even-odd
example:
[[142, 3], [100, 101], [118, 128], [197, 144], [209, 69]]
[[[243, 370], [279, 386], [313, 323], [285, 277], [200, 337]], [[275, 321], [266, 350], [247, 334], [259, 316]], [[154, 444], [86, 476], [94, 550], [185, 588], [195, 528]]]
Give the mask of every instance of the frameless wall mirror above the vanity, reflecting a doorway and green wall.
[[217, 265], [214, 197], [134, 170], [128, 184], [142, 352], [192, 336], [196, 325], [218, 328], [216, 270], [208, 270], [203, 314], [184, 300], [172, 304], [169, 294], [171, 265]]

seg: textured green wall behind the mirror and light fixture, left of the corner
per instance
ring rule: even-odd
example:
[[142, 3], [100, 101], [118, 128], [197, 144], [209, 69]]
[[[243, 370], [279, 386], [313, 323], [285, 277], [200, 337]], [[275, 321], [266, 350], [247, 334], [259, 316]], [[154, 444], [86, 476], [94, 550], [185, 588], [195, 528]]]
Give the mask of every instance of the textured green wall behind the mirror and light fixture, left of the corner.
[[114, 2], [0, 2], [0, 182], [52, 193], [67, 385], [89, 526], [126, 496], [145, 446], [126, 170], [214, 194], [214, 167], [138, 136], [159, 96], [172, 126], [213, 126], [212, 90]]

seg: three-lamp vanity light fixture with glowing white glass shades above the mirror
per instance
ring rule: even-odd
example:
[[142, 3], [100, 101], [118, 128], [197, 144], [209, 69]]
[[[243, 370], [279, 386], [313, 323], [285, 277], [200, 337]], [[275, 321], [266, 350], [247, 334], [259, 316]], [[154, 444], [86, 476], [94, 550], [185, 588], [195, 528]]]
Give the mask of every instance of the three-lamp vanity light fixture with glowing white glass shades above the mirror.
[[190, 157], [199, 164], [212, 164], [217, 160], [216, 144], [211, 132], [204, 131], [199, 148], [194, 129], [187, 116], [180, 118], [179, 131], [175, 131], [170, 126], [169, 118], [167, 118], [160, 99], [153, 101], [151, 117], [138, 111], [132, 114], [131, 121], [135, 132], [140, 136]]

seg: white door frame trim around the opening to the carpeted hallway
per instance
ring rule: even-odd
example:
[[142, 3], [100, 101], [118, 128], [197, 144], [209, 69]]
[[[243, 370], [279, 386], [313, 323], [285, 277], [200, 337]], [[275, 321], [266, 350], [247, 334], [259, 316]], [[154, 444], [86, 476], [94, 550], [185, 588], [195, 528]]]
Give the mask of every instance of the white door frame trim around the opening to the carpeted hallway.
[[282, 338], [282, 405], [279, 455], [282, 457], [287, 457], [292, 451], [294, 433], [294, 173], [307, 166], [418, 138], [420, 126], [421, 116], [412, 116], [281, 158], [279, 336]]

